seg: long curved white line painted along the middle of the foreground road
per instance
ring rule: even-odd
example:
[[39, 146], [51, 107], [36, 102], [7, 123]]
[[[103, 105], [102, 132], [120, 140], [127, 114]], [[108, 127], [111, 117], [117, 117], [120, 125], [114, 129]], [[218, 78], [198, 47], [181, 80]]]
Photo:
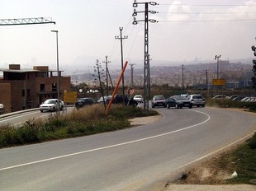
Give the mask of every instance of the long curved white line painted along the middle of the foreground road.
[[28, 163], [23, 163], [21, 165], [12, 165], [12, 166], [8, 166], [8, 167], [0, 169], [0, 171], [14, 169], [14, 168], [18, 168], [18, 167], [25, 166], [25, 165], [33, 165], [33, 164], [37, 164], [37, 163], [41, 163], [41, 162], [45, 162], [45, 161], [53, 161], [53, 160], [56, 160], [56, 159], [61, 159], [61, 158], [64, 158], [64, 157], [69, 157], [69, 156], [81, 155], [81, 154], [92, 152], [92, 151], [100, 151], [100, 150], [104, 150], [104, 149], [107, 149], [107, 148], [119, 147], [119, 146], [122, 146], [122, 145], [128, 145], [128, 144], [135, 143], [135, 142], [142, 142], [142, 141], [153, 139], [153, 138], [156, 138], [156, 137], [163, 137], [163, 136], [166, 136], [166, 135], [169, 135], [169, 134], [178, 133], [178, 132], [190, 129], [190, 128], [197, 127], [197, 126], [199, 126], [203, 123], [206, 123], [207, 121], [209, 121], [211, 119], [209, 114], [206, 114], [204, 112], [197, 111], [197, 110], [192, 110], [192, 111], [198, 112], [198, 113], [201, 113], [201, 114], [205, 114], [207, 116], [207, 119], [205, 121], [201, 122], [201, 123], [197, 123], [197, 124], [194, 124], [192, 126], [188, 126], [187, 128], [181, 128], [181, 129], [178, 129], [178, 130], [175, 130], [175, 131], [172, 131], [172, 132], [163, 133], [163, 134], [159, 134], [159, 135], [154, 135], [154, 136], [151, 136], [151, 137], [140, 138], [140, 139], [130, 141], [130, 142], [122, 142], [122, 143], [107, 146], [107, 147], [99, 147], [99, 148], [90, 149], [90, 150], [87, 150], [87, 151], [74, 152], [74, 153], [71, 153], [71, 154], [68, 154], [68, 155], [56, 156], [56, 157], [52, 157], [52, 158], [48, 158], [48, 159], [44, 159], [44, 160], [40, 160], [40, 161], [32, 161], [32, 162], [28, 162]]

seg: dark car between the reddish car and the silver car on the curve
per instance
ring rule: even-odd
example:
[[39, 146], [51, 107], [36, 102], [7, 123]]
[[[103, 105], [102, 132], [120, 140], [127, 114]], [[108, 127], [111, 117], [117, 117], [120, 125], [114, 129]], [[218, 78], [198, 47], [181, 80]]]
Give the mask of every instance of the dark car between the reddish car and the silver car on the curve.
[[192, 108], [192, 102], [182, 95], [173, 95], [166, 100], [167, 108], [175, 107], [182, 109], [183, 107]]

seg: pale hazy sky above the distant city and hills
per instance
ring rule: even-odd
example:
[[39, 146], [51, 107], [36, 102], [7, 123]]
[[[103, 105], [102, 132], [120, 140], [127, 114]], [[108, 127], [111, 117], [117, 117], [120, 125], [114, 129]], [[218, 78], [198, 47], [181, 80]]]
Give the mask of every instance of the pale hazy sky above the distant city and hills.
[[[59, 30], [59, 68], [95, 65], [105, 55], [112, 66], [121, 62], [119, 27], [123, 27], [124, 60], [144, 60], [144, 14], [132, 25], [132, 0], [0, 0], [0, 19], [51, 17], [56, 25], [0, 26], [0, 68], [21, 63], [21, 68], [56, 63]], [[137, 1], [144, 2], [144, 1]], [[256, 1], [159, 0], [149, 6], [149, 54], [160, 61], [252, 58], [256, 44]], [[145, 10], [144, 5], [136, 8]], [[22, 67], [23, 66], [23, 67]]]

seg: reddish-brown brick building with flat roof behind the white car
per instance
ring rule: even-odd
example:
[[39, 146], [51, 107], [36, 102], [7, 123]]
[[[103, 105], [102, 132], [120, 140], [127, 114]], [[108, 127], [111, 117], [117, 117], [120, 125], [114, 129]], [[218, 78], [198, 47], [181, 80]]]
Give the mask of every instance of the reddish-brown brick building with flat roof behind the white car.
[[[20, 64], [10, 64], [8, 69], [0, 68], [0, 104], [3, 113], [39, 107], [50, 98], [57, 98], [57, 71], [48, 66], [21, 69]], [[70, 91], [70, 77], [62, 77], [59, 71], [59, 99], [64, 100], [64, 91]]]

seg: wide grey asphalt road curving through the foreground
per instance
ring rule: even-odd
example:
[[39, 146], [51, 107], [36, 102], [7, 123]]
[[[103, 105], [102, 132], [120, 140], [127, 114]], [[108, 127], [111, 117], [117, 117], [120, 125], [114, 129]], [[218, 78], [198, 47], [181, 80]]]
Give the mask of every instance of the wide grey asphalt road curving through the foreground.
[[155, 123], [0, 150], [0, 190], [149, 190], [154, 182], [248, 135], [255, 115], [162, 109]]

